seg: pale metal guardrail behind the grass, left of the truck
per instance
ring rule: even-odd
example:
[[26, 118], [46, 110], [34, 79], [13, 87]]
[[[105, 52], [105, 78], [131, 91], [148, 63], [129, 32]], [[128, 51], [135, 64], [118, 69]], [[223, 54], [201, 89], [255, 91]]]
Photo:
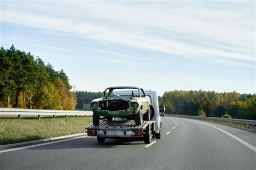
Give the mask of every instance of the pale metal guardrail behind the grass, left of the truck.
[[8, 117], [17, 115], [19, 119], [21, 116], [92, 116], [92, 111], [77, 111], [77, 110], [38, 110], [38, 109], [14, 109], [14, 108], [0, 108], [0, 116]]

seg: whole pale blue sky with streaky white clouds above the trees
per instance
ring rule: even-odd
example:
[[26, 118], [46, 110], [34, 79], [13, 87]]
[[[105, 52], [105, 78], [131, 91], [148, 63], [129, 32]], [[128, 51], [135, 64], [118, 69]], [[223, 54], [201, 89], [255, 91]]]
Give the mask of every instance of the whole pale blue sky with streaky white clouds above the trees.
[[0, 45], [63, 69], [75, 90], [255, 93], [254, 1], [0, 2]]

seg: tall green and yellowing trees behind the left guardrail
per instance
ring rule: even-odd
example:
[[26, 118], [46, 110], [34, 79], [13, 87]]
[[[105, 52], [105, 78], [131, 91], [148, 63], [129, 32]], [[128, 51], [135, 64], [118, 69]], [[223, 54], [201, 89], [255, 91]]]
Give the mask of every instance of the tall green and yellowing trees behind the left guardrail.
[[76, 93], [68, 76], [31, 53], [0, 50], [0, 107], [74, 110]]

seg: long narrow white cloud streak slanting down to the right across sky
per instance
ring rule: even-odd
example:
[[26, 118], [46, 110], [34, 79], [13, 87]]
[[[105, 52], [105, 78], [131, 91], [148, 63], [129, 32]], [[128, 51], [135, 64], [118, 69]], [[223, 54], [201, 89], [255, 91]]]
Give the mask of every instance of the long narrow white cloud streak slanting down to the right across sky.
[[220, 49], [188, 44], [161, 36], [115, 29], [107, 25], [75, 22], [63, 18], [53, 18], [33, 13], [9, 10], [2, 10], [1, 15], [1, 22], [3, 23], [73, 33], [83, 36], [86, 39], [92, 39], [103, 43], [113, 43], [162, 51], [186, 57], [196, 56], [199, 58], [229, 58], [254, 61], [254, 56], [247, 54], [221, 51]]

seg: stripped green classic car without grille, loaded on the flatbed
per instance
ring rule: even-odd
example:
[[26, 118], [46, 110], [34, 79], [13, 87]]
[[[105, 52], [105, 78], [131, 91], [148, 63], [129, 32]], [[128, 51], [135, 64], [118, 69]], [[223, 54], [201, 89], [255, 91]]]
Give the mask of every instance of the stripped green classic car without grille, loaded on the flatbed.
[[93, 124], [99, 124], [99, 116], [111, 121], [112, 117], [134, 119], [136, 125], [150, 121], [150, 98], [142, 88], [109, 87], [103, 91], [102, 98], [91, 102]]

